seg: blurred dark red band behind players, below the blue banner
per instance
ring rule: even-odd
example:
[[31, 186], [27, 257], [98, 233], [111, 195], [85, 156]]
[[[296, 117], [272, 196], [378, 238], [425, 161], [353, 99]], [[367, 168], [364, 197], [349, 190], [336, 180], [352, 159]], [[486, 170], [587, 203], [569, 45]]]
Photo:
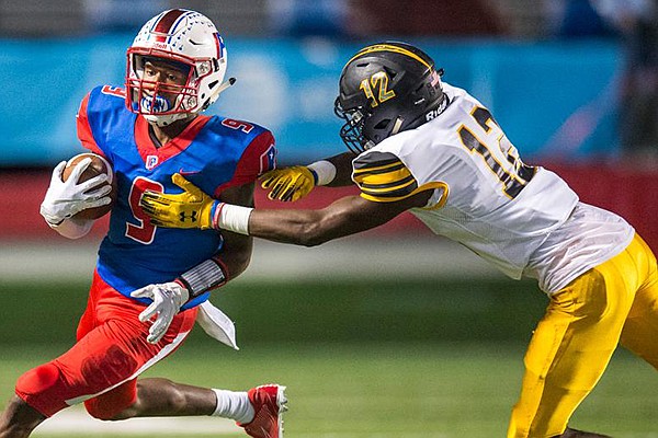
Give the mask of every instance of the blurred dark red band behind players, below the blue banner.
[[[609, 209], [628, 220], [651, 247], [658, 252], [658, 171], [639, 171], [633, 165], [564, 164], [545, 165], [561, 175], [585, 203]], [[41, 201], [50, 182], [50, 171], [0, 171], [0, 239], [43, 240], [63, 239], [50, 230], [38, 214]], [[355, 187], [318, 187], [307, 198], [297, 203], [280, 203], [266, 198], [260, 187], [256, 193], [257, 208], [324, 208], [331, 201], [356, 195]], [[100, 219], [92, 230], [103, 235], [107, 229], [107, 216]], [[419, 235], [428, 234], [422, 223], [406, 212], [367, 235]]]

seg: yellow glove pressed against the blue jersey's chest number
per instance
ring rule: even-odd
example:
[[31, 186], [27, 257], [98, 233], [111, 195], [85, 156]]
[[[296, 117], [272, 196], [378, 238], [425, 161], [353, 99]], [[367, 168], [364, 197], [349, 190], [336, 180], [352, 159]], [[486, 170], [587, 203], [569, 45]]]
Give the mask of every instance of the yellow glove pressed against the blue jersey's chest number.
[[189, 182], [180, 173], [171, 176], [184, 192], [173, 195], [146, 191], [139, 205], [150, 216], [151, 223], [167, 228], [213, 228], [213, 211], [220, 203]]

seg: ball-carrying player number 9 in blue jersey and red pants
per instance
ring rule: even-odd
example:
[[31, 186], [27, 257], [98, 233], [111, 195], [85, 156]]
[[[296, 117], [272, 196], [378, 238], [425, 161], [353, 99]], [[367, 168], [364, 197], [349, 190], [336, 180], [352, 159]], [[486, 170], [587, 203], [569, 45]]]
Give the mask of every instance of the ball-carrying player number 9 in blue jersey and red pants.
[[[195, 321], [237, 348], [232, 322], [207, 299], [246, 269], [251, 238], [156, 233], [138, 205], [147, 188], [174, 188], [171, 175], [184, 170], [217, 198], [253, 205], [256, 180], [274, 166], [272, 134], [245, 120], [201, 114], [234, 81], [223, 82], [226, 59], [211, 20], [172, 9], [148, 21], [127, 50], [125, 89], [97, 87], [82, 100], [78, 137], [112, 164], [116, 203], [77, 343], [19, 378], [0, 416], [1, 438], [27, 437], [49, 416], [79, 403], [101, 419], [215, 415], [235, 419], [251, 437], [283, 436], [282, 385], [235, 392], [139, 378], [181, 345]], [[70, 239], [87, 234], [93, 222], [76, 216], [79, 211], [110, 201], [106, 189], [89, 191], [105, 175], [78, 181], [90, 161], [82, 160], [66, 182], [66, 163], [57, 165], [42, 203], [47, 223]]]

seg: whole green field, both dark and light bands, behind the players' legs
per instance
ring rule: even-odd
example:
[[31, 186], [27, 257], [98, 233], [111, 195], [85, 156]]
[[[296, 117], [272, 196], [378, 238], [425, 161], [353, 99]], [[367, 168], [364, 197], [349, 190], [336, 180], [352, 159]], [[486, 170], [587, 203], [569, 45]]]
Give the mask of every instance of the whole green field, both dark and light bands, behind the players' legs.
[[[66, 347], [60, 336], [75, 326], [86, 291], [79, 284], [0, 287], [23, 298], [9, 299], [0, 322], [3, 332], [19, 319], [24, 327], [0, 345], [4, 401], [23, 370]], [[75, 304], [60, 306], [71, 293], [66, 302]], [[288, 438], [503, 437], [524, 344], [545, 304], [532, 284], [507, 280], [246, 284], [225, 293], [218, 303], [236, 320], [242, 349], [232, 351], [197, 330], [148, 374], [235, 390], [286, 384]], [[35, 304], [31, 325], [24, 302], [36, 297], [43, 303]], [[266, 312], [272, 316], [263, 319]], [[35, 344], [39, 332], [46, 344]], [[621, 350], [572, 425], [615, 438], [656, 438], [657, 412], [658, 376]], [[145, 436], [116, 426], [115, 435], [93, 436]], [[177, 435], [206, 436], [242, 435]]]

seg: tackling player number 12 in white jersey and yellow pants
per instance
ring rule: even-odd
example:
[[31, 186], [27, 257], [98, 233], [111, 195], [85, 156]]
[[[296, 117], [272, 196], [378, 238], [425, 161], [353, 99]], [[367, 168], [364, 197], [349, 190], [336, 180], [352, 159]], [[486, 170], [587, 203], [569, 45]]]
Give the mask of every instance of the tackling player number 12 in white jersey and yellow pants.
[[318, 184], [353, 183], [360, 196], [320, 210], [250, 209], [214, 200], [177, 174], [182, 194], [147, 192], [141, 206], [156, 226], [298, 245], [409, 210], [508, 276], [536, 278], [551, 298], [525, 355], [508, 438], [604, 437], [567, 425], [619, 344], [658, 368], [656, 257], [624, 219], [580, 203], [549, 170], [524, 164], [489, 110], [440, 76], [410, 45], [363, 48], [343, 69], [336, 103], [345, 120], [341, 137], [360, 153], [273, 171], [263, 181], [282, 200]]

